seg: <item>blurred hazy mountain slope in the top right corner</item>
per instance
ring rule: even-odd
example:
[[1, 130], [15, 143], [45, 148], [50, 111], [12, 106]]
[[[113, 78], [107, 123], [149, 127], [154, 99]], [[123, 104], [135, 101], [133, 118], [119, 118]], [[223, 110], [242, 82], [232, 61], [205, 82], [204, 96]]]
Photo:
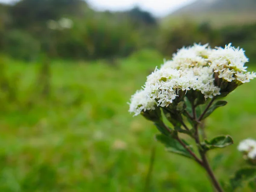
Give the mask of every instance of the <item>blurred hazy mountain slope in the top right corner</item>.
[[186, 17], [215, 25], [256, 21], [256, 0], [196, 0], [167, 18]]

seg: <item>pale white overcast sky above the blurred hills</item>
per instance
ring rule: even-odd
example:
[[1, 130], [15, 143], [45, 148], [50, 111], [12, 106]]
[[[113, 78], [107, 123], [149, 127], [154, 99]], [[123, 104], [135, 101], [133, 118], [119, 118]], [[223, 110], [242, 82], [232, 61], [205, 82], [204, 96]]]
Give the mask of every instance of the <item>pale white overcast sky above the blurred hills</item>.
[[[17, 0], [0, 0], [0, 2], [11, 3]], [[87, 0], [97, 10], [127, 10], [134, 6], [151, 12], [154, 16], [168, 15], [175, 9], [191, 3], [195, 0]]]

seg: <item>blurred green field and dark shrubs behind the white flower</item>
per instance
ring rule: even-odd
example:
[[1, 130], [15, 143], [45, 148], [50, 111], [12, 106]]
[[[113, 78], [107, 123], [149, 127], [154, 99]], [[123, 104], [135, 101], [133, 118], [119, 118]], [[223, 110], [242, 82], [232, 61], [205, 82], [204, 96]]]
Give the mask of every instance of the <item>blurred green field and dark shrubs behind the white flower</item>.
[[[73, 21], [70, 29], [49, 28], [63, 17]], [[200, 167], [167, 154], [154, 125], [127, 112], [145, 76], [182, 46], [233, 42], [256, 69], [253, 19], [186, 18], [154, 18], [139, 8], [96, 12], [82, 0], [0, 5], [0, 191], [140, 192], [154, 148], [147, 191], [213, 191]], [[256, 134], [255, 86], [239, 87], [207, 122], [209, 136], [236, 142], [211, 154], [221, 180], [244, 165], [238, 142]]]

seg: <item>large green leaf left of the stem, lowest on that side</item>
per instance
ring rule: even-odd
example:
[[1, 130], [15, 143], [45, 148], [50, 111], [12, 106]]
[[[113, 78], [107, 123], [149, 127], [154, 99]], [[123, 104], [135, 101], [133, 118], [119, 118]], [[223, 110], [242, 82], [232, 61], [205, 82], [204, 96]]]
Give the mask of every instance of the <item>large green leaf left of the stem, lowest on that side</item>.
[[[162, 143], [163, 145], [166, 146], [166, 150], [175, 154], [180, 154], [185, 157], [193, 158], [192, 155], [184, 148], [176, 139], [166, 136], [163, 134], [157, 134], [156, 140]], [[185, 143], [191, 151], [193, 151], [192, 146], [186, 143], [186, 141], [182, 140], [183, 143]]]

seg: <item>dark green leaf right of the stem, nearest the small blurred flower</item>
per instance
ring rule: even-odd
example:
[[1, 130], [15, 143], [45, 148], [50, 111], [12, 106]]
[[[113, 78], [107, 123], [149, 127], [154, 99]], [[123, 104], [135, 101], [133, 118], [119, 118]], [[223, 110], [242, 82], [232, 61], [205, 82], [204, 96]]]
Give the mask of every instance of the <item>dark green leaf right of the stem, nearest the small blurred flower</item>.
[[214, 149], [214, 148], [224, 148], [228, 145], [232, 145], [234, 143], [232, 137], [229, 135], [227, 136], [218, 136], [213, 138], [210, 141], [205, 140], [205, 145], [206, 150]]

